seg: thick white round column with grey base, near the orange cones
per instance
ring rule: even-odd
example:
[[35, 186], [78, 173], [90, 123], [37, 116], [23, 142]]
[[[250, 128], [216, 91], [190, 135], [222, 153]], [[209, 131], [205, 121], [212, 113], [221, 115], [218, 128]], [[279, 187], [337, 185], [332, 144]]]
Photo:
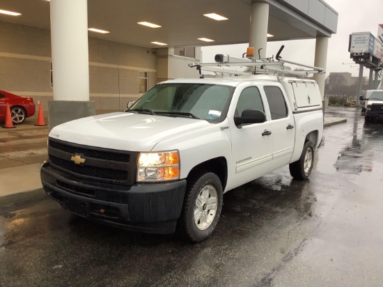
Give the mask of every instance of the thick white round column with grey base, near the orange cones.
[[51, 0], [53, 101], [49, 129], [95, 114], [89, 102], [87, 0]]

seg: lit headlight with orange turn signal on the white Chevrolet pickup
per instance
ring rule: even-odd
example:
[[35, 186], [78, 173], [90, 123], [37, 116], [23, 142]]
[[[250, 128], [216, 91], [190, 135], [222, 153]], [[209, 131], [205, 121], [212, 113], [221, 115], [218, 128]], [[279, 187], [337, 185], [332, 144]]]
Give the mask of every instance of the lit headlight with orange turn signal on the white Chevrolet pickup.
[[178, 150], [139, 154], [137, 181], [178, 179], [180, 179], [180, 153]]

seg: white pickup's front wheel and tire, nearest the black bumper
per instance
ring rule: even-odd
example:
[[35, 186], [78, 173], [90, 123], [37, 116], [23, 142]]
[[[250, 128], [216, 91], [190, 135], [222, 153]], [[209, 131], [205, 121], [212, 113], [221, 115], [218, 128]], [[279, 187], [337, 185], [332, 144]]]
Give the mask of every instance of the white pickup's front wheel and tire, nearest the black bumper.
[[203, 173], [187, 185], [180, 228], [192, 242], [201, 242], [210, 236], [222, 210], [223, 190], [215, 173]]

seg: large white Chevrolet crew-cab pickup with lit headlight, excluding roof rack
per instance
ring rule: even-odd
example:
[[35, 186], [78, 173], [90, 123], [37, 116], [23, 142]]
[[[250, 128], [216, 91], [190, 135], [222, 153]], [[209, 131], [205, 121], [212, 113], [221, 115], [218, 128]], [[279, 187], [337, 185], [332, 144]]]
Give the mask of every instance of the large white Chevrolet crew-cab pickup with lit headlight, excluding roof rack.
[[177, 227], [199, 242], [230, 189], [286, 164], [293, 178], [308, 178], [322, 131], [313, 80], [174, 79], [124, 112], [54, 127], [41, 180], [81, 217], [146, 233]]

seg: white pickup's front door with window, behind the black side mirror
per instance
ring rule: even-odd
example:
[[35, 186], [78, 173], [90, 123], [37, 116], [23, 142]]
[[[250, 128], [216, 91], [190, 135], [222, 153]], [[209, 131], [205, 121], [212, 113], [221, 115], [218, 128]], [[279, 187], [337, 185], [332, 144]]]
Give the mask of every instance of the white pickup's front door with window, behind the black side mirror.
[[[245, 109], [265, 111], [265, 98], [258, 87], [248, 86], [242, 90], [235, 105], [235, 115], [241, 116]], [[232, 164], [235, 185], [247, 183], [269, 171], [272, 160], [272, 123], [252, 123], [230, 127], [232, 141]]]

